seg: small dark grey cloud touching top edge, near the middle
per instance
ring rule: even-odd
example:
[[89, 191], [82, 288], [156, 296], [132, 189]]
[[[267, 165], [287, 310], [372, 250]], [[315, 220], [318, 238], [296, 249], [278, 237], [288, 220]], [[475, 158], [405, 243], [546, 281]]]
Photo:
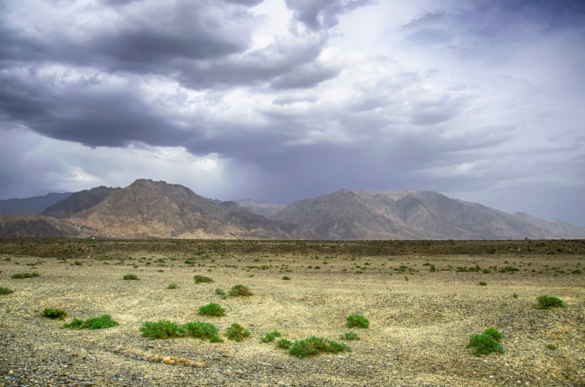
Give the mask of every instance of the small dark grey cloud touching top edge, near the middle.
[[295, 18], [309, 29], [318, 31], [337, 25], [338, 16], [374, 4], [373, 0], [285, 0]]

